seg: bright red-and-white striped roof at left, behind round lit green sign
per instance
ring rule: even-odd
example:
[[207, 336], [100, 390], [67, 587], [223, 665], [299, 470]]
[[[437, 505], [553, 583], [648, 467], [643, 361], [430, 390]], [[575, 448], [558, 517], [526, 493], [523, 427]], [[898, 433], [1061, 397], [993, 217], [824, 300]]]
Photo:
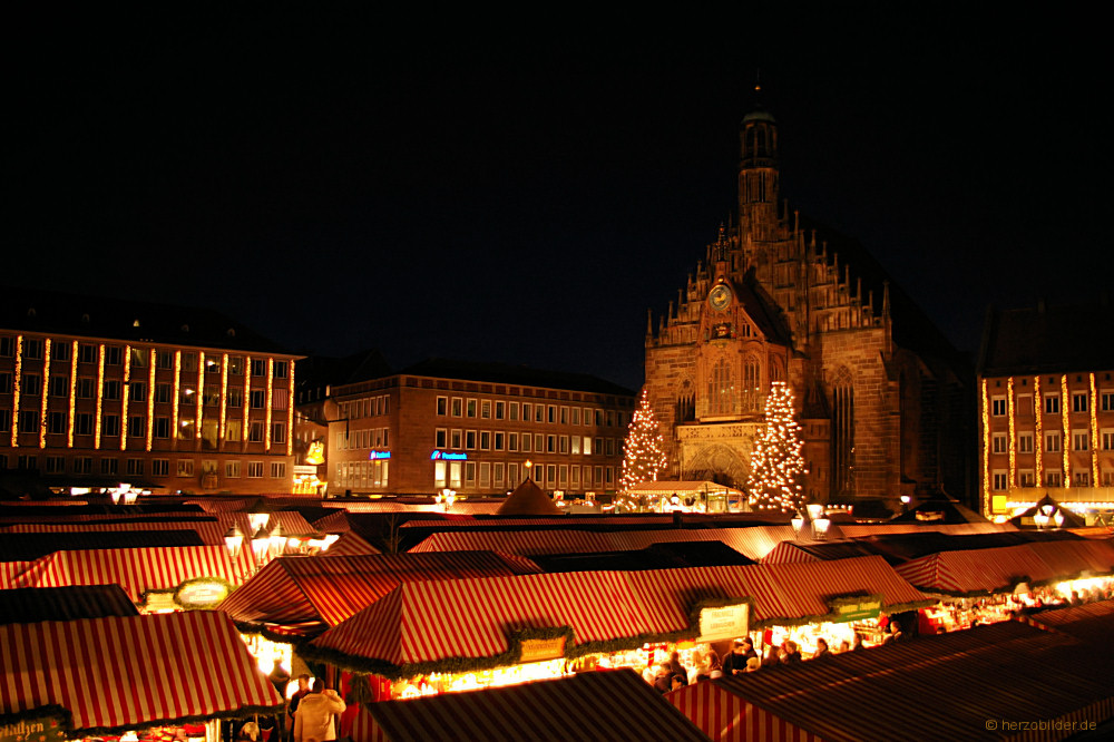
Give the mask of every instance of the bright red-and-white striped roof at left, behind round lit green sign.
[[172, 590], [187, 579], [217, 577], [238, 586], [252, 572], [251, 549], [233, 558], [224, 546], [56, 551], [36, 559], [12, 587], [119, 585], [136, 603], [149, 590]]

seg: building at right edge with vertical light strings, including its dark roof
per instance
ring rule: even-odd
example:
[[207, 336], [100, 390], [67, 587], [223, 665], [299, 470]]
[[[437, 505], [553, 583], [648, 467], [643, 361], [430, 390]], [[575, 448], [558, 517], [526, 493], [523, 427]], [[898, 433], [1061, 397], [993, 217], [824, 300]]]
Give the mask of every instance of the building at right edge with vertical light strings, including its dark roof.
[[1045, 495], [1114, 511], [1111, 306], [987, 313], [978, 362], [984, 515], [1012, 515]]

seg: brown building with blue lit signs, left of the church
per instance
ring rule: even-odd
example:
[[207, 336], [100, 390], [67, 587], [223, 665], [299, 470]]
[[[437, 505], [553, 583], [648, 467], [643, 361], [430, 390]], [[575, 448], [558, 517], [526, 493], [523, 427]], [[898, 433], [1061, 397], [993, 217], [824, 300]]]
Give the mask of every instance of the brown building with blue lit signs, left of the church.
[[330, 389], [331, 494], [615, 490], [634, 394], [593, 377], [429, 360]]

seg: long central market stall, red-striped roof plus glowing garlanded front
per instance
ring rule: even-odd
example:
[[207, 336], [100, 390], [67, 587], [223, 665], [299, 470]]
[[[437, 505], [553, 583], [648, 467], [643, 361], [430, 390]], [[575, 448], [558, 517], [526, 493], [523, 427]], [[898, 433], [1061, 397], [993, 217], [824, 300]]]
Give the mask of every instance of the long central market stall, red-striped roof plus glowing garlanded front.
[[595, 667], [642, 672], [754, 629], [814, 633], [927, 604], [881, 557], [405, 583], [300, 652], [410, 697]]

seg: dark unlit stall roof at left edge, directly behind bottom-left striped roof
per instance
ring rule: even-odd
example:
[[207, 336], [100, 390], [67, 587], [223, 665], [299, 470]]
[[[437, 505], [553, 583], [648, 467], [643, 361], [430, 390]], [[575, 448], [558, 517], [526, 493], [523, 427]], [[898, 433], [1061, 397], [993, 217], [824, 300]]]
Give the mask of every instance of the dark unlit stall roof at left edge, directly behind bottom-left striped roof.
[[105, 616], [137, 616], [119, 585], [23, 587], [0, 590], [0, 624], [36, 624]]

